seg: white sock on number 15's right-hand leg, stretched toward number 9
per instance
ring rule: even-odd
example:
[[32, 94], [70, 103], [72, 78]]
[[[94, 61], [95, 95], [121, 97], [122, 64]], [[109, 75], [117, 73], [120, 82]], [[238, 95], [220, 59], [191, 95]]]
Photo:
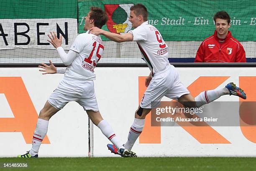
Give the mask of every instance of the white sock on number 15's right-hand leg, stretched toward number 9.
[[124, 148], [121, 141], [118, 139], [118, 137], [115, 136], [113, 128], [110, 126], [110, 124], [107, 121], [105, 120], [100, 121], [97, 127], [100, 128], [101, 132], [118, 148], [118, 150], [120, 148]]

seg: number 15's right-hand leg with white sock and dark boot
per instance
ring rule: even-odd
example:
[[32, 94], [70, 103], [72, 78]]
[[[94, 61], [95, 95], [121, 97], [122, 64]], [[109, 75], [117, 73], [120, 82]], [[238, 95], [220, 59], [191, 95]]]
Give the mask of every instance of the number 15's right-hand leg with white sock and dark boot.
[[115, 153], [119, 154], [123, 157], [137, 157], [136, 153], [130, 151], [129, 149], [125, 148], [119, 138], [115, 135], [113, 128], [110, 126], [110, 124], [103, 120], [101, 114], [99, 111], [86, 111], [89, 118], [92, 120], [92, 122], [100, 128], [102, 133], [114, 144], [115, 146]]

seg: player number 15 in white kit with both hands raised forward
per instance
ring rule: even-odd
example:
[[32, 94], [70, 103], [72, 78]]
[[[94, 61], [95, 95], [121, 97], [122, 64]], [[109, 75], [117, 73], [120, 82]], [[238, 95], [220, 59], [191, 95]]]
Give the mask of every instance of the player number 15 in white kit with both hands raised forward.
[[18, 157], [38, 157], [39, 147], [47, 133], [49, 119], [69, 101], [76, 101], [84, 108], [92, 122], [115, 144], [122, 156], [136, 157], [136, 153], [124, 148], [109, 123], [103, 120], [95, 96], [94, 68], [102, 56], [104, 46], [100, 36], [91, 34], [89, 29], [93, 26], [101, 28], [107, 20], [108, 16], [102, 9], [90, 8], [90, 12], [85, 17], [84, 30], [87, 32], [77, 35], [68, 53], [65, 53], [61, 47], [62, 37], [58, 39], [56, 33], [48, 35], [50, 38], [48, 41], [57, 49], [62, 62], [67, 65], [67, 70], [56, 70], [52, 64], [49, 67], [43, 64], [41, 67], [45, 69], [46, 73], [56, 73], [57, 71], [58, 73], [65, 73], [64, 79], [40, 111], [31, 150]]

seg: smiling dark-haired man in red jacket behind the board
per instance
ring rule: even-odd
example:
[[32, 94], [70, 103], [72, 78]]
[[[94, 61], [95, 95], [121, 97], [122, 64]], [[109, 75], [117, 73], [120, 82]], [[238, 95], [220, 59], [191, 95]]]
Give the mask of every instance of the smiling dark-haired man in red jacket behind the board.
[[206, 38], [197, 50], [195, 62], [205, 63], [246, 63], [241, 43], [232, 37], [230, 17], [225, 11], [214, 15], [215, 32]]

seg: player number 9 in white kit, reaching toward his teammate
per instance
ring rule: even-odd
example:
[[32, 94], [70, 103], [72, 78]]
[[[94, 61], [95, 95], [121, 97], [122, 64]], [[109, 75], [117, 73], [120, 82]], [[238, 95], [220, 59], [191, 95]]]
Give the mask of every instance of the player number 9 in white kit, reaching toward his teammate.
[[[228, 83], [225, 88], [204, 91], [197, 97], [192, 97], [179, 80], [177, 70], [169, 64], [168, 46], [161, 33], [153, 25], [148, 24], [146, 7], [142, 4], [136, 4], [130, 10], [129, 20], [134, 30], [130, 30], [128, 33], [119, 35], [97, 27], [90, 29], [90, 33], [105, 35], [115, 42], [136, 41], [143, 59], [151, 70], [146, 78], [147, 89], [135, 112], [135, 119], [128, 133], [128, 141], [124, 144], [125, 148], [131, 149], [133, 147], [143, 130], [146, 115], [151, 111], [151, 108], [156, 108], [160, 104], [160, 100], [164, 96], [177, 100], [186, 107], [200, 107], [226, 94], [246, 99], [243, 90], [233, 83]], [[108, 144], [108, 148], [111, 152], [119, 154], [114, 145]]]

